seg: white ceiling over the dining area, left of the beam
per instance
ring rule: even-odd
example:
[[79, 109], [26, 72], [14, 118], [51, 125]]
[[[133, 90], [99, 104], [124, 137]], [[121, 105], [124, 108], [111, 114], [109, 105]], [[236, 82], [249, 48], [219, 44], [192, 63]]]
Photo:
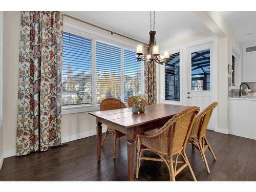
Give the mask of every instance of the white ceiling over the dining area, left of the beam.
[[[148, 42], [150, 11], [66, 11], [87, 22]], [[190, 11], [156, 11], [157, 45], [178, 42], [209, 31]]]

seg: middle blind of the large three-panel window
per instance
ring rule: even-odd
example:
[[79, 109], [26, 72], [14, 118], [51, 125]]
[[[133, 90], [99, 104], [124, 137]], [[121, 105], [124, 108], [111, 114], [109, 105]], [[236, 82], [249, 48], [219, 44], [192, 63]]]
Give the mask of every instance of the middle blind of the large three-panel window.
[[121, 48], [96, 41], [96, 102], [121, 100]]

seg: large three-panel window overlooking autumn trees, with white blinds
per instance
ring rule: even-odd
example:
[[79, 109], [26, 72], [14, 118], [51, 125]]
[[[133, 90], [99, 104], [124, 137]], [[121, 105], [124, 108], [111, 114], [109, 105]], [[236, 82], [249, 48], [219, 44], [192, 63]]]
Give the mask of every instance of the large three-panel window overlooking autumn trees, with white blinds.
[[71, 33], [63, 33], [62, 105], [75, 108], [66, 109], [88, 104], [94, 110], [105, 98], [127, 102], [141, 92], [142, 63], [133, 48], [81, 31], [75, 35], [74, 29], [68, 31]]

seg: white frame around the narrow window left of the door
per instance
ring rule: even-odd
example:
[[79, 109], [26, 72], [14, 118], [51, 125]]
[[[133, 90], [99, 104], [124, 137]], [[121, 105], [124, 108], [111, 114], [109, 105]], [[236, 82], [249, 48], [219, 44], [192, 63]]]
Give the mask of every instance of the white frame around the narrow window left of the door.
[[182, 49], [176, 47], [174, 49], [168, 50], [169, 54], [180, 53], [180, 100], [173, 101], [173, 100], [165, 100], [165, 64], [160, 66], [160, 103], [167, 103], [167, 104], [182, 104]]

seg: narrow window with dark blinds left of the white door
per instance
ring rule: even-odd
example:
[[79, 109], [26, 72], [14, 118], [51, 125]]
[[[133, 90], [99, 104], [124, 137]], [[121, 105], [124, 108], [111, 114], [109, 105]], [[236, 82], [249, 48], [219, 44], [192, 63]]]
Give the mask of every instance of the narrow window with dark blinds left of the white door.
[[180, 53], [170, 54], [164, 66], [165, 100], [180, 100]]

